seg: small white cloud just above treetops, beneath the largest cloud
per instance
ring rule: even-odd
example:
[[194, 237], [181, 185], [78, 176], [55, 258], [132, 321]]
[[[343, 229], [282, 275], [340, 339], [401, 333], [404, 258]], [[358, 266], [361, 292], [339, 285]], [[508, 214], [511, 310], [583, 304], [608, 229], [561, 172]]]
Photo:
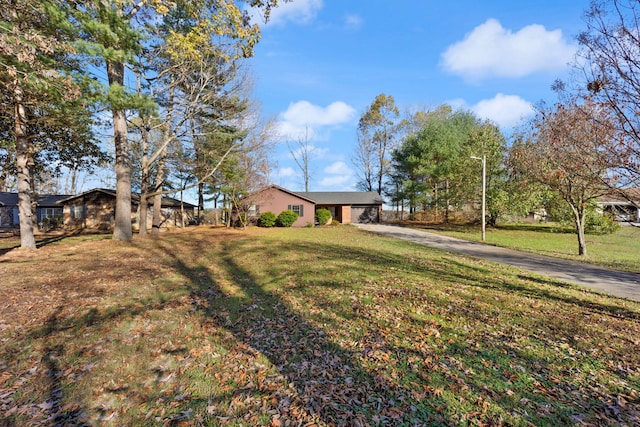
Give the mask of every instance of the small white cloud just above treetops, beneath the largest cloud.
[[474, 106], [473, 111], [482, 119], [489, 119], [502, 128], [517, 125], [524, 117], [533, 113], [533, 106], [517, 95], [497, 94], [491, 99], [484, 99]]

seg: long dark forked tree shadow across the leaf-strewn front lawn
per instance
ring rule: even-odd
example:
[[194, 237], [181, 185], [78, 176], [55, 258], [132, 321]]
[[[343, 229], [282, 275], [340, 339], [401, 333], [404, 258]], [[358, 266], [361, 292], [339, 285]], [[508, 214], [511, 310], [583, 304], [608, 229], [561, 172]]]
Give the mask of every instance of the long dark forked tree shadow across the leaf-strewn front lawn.
[[[321, 327], [312, 324], [286, 302], [265, 291], [252, 273], [236, 262], [241, 253], [224, 243], [219, 260], [224, 275], [239, 286], [237, 295], [223, 290], [205, 267], [191, 267], [168, 246], [163, 250], [193, 287], [196, 308], [208, 321], [224, 327], [253, 351], [266, 356], [284, 378], [293, 395], [278, 395], [274, 402], [282, 421], [321, 422], [328, 425], [447, 424], [430, 413], [411, 390], [391, 381], [378, 367], [363, 366], [361, 353], [334, 343]], [[385, 338], [377, 338], [386, 346]], [[368, 349], [374, 352], [373, 349]], [[426, 384], [425, 384], [426, 386]], [[265, 392], [258, 384], [258, 392]], [[237, 390], [237, 392], [241, 392]], [[302, 412], [301, 412], [302, 411]]]

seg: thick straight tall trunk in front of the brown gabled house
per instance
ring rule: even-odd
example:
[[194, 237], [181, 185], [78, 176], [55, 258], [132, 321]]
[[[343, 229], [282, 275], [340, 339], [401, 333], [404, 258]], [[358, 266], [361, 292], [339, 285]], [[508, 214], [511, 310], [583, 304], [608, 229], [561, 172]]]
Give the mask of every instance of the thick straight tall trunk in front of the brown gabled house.
[[[107, 61], [109, 85], [124, 86], [124, 63]], [[131, 154], [127, 139], [127, 120], [122, 109], [113, 109], [113, 140], [116, 151], [116, 218], [113, 239], [130, 242], [131, 229]]]

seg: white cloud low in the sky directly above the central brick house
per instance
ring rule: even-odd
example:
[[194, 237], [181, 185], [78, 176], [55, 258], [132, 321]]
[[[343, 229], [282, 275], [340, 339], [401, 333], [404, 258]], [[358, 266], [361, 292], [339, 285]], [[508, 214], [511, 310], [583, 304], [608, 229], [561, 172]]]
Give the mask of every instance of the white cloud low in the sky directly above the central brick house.
[[348, 123], [355, 115], [355, 108], [342, 101], [333, 102], [326, 107], [309, 101], [298, 101], [289, 104], [289, 108], [280, 114], [278, 132], [285, 139], [303, 138], [312, 141], [319, 138], [321, 128]]

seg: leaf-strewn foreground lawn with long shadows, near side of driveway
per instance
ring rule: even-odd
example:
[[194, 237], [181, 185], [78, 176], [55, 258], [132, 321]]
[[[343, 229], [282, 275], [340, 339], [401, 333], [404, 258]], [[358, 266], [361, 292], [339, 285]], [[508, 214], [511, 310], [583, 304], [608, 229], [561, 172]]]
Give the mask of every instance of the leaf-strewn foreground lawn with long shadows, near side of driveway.
[[353, 227], [0, 256], [0, 425], [639, 425], [640, 304]]

